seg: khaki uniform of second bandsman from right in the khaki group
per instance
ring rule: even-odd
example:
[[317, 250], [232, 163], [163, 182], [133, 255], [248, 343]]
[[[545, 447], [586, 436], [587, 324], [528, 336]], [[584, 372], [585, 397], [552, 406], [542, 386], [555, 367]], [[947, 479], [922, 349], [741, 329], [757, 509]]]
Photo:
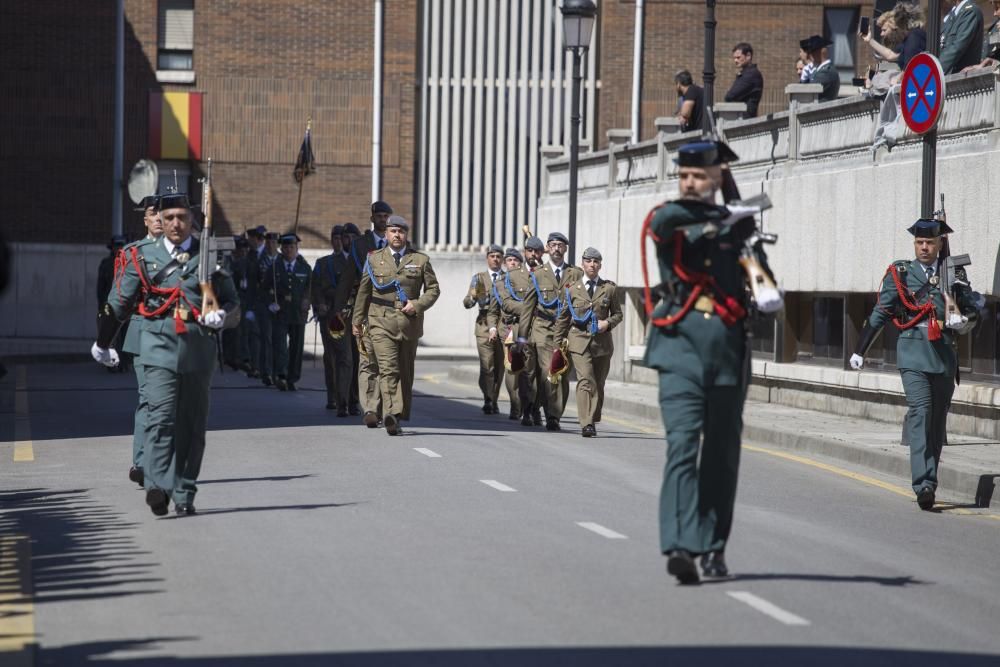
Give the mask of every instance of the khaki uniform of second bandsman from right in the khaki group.
[[583, 269], [563, 264], [557, 279], [552, 263], [546, 262], [536, 268], [532, 276], [538, 292], [538, 308], [531, 327], [531, 342], [535, 346], [539, 385], [545, 392], [542, 405], [545, 408], [546, 419], [559, 419], [566, 409], [566, 400], [569, 398], [569, 373], [563, 374], [556, 384], [552, 384], [546, 378], [559, 337], [557, 323], [562, 314], [563, 290], [583, 277]]

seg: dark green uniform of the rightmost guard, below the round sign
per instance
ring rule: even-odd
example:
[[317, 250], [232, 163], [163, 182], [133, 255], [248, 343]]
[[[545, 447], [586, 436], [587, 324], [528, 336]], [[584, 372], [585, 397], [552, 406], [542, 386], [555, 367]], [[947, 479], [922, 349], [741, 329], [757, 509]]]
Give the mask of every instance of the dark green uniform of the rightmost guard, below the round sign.
[[[938, 268], [933, 276], [916, 260], [893, 262], [886, 271], [879, 291], [879, 301], [868, 318], [859, 344], [859, 354], [864, 356], [867, 347], [887, 323], [893, 319], [915, 326], [901, 329], [896, 343], [896, 367], [903, 380], [908, 410], [903, 424], [904, 444], [910, 448], [910, 472], [913, 490], [920, 495], [922, 489], [933, 492], [937, 488], [938, 463], [941, 448], [947, 440], [948, 408], [955, 391], [958, 370], [958, 333], [944, 326], [945, 302], [941, 291]], [[940, 330], [938, 340], [929, 340], [930, 315], [915, 317], [900, 298], [896, 287], [898, 276], [906, 299], [913, 305], [933, 303], [935, 328]], [[961, 313], [970, 320], [976, 316], [975, 297], [968, 285], [965, 271], [956, 269], [955, 301]], [[893, 326], [899, 326], [893, 324]]]

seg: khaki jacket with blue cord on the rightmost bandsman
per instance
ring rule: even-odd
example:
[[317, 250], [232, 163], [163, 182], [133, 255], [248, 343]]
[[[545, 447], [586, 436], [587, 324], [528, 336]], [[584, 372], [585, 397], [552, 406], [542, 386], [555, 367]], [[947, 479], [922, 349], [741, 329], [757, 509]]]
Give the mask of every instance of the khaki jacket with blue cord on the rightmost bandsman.
[[[573, 306], [573, 310], [563, 307], [559, 318], [559, 337], [567, 340], [570, 352], [575, 354], [589, 352], [592, 357], [607, 357], [614, 353], [615, 345], [611, 330], [622, 321], [621, 305], [615, 298], [616, 288], [617, 286], [610, 280], [598, 278], [593, 299], [587, 294], [586, 277], [566, 288], [563, 298], [567, 304]], [[591, 310], [596, 320], [608, 321], [607, 331], [592, 335], [589, 322], [580, 324], [573, 320], [574, 312], [577, 318], [585, 318]]]

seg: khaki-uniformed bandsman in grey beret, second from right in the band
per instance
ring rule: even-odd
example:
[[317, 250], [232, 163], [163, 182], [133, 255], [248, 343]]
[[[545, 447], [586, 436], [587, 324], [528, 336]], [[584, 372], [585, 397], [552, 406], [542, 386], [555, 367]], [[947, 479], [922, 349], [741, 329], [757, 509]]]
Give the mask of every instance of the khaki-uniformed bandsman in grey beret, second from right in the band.
[[[549, 261], [531, 273], [538, 297], [538, 307], [531, 325], [531, 342], [536, 352], [536, 373], [542, 378], [539, 385], [544, 390], [541, 401], [545, 410], [545, 428], [549, 431], [560, 429], [559, 420], [569, 398], [569, 373], [563, 373], [556, 382], [547, 380], [552, 366], [552, 356], [558, 346], [557, 321], [562, 314], [563, 291], [583, 276], [583, 271], [566, 262], [569, 239], [562, 232], [549, 234], [546, 249]], [[561, 354], [561, 353], [560, 353]]]

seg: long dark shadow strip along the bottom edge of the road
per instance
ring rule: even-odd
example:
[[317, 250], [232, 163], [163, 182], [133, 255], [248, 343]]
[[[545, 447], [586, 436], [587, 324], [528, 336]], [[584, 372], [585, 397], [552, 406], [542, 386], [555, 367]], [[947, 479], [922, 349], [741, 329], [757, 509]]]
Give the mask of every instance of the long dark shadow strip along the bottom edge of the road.
[[[156, 650], [158, 639], [92, 642], [58, 649], [42, 649], [38, 665], [121, 665], [108, 656], [115, 651]], [[127, 664], [143, 667], [740, 667], [810, 665], [811, 667], [889, 667], [890, 665], [948, 665], [994, 667], [997, 656], [943, 651], [865, 649], [805, 646], [684, 646], [606, 648], [427, 649], [312, 654], [234, 655], [213, 657], [131, 657]]]

